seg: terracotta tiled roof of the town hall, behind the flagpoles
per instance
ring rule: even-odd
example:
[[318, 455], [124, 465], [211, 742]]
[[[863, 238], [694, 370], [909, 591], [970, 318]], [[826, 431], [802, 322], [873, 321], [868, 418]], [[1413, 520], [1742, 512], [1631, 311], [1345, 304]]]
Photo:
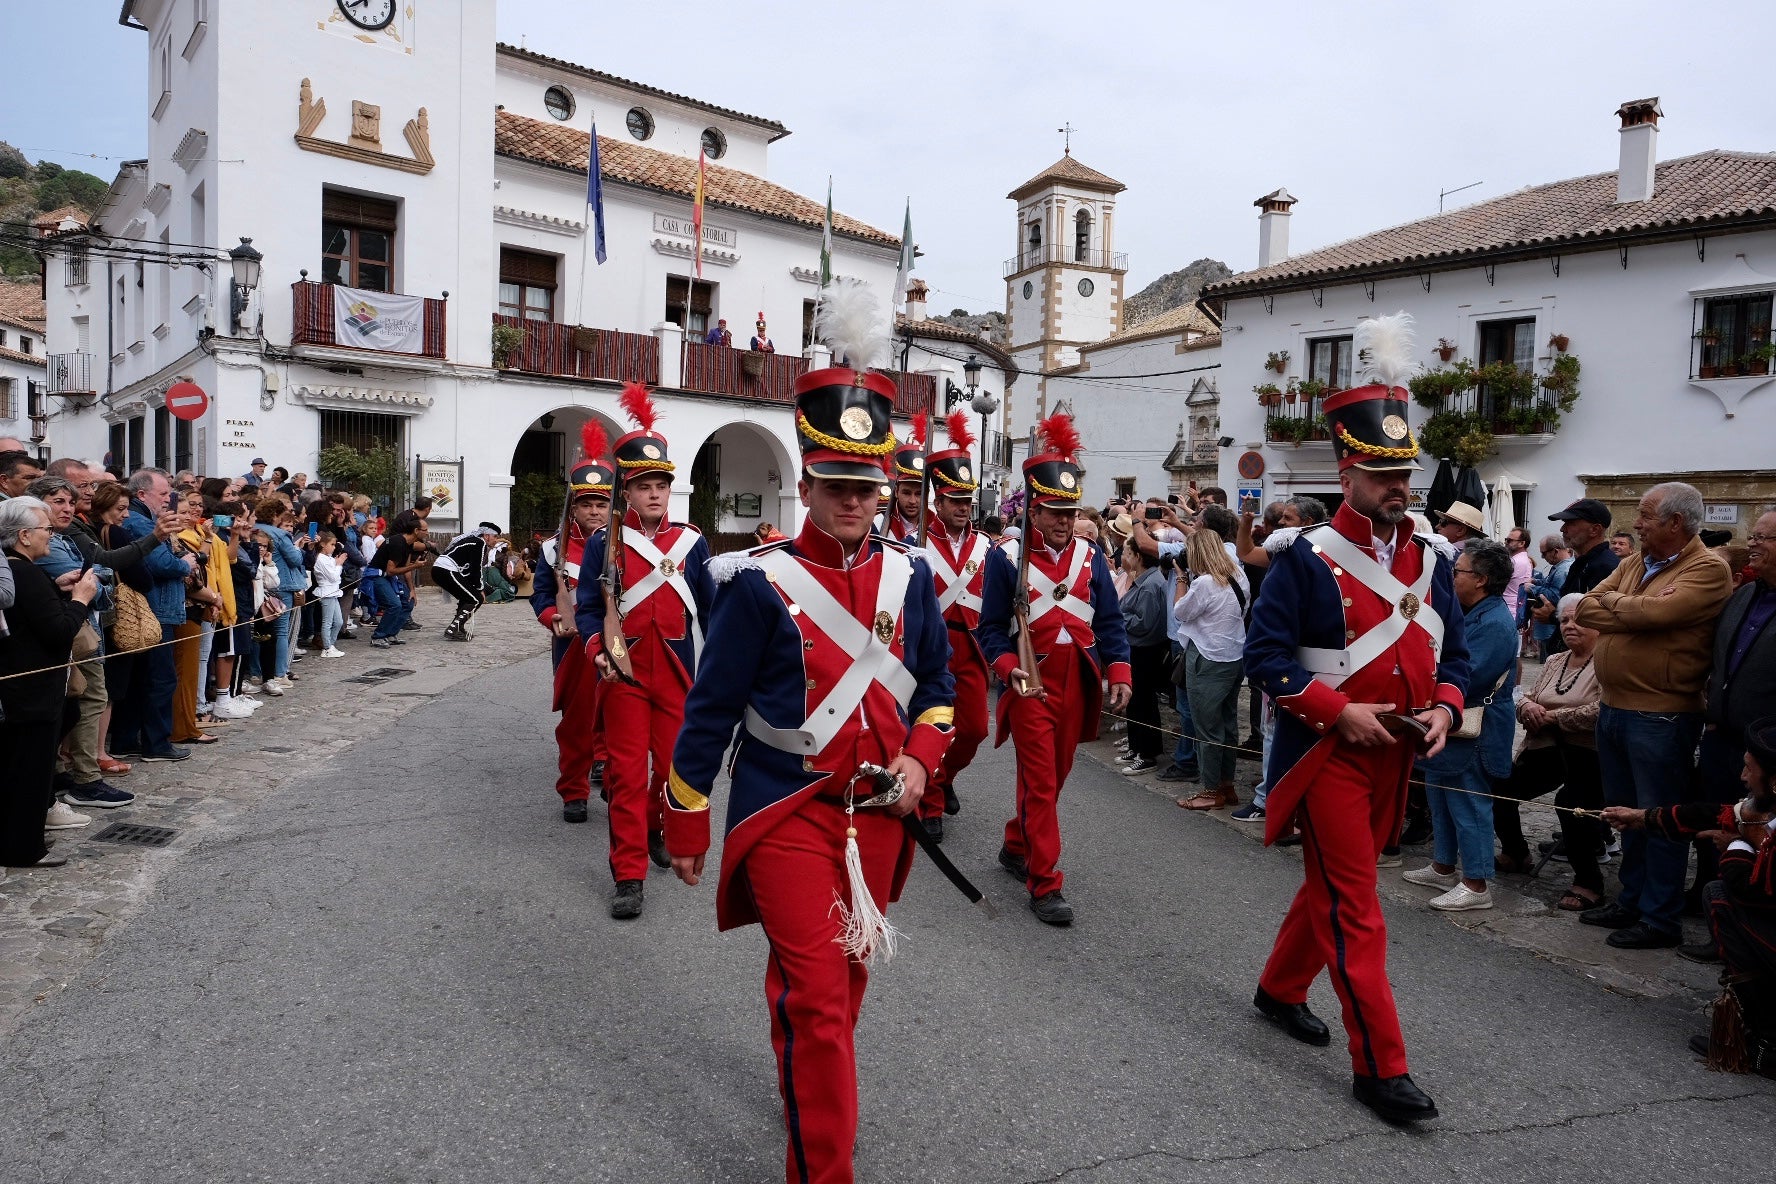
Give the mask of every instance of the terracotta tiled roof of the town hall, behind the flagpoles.
[[[586, 172], [591, 135], [559, 122], [527, 119], [511, 112], [494, 112], [494, 153], [515, 160], [529, 160], [556, 169]], [[639, 185], [662, 193], [689, 199], [696, 192], [696, 162], [689, 156], [662, 153], [641, 144], [599, 137], [599, 165], [606, 181]], [[826, 222], [826, 206], [755, 178], [739, 169], [709, 165], [705, 201], [710, 206], [744, 209], [765, 218], [783, 218], [819, 229]], [[899, 247], [900, 240], [872, 225], [833, 213], [833, 233], [860, 238], [883, 247]]]

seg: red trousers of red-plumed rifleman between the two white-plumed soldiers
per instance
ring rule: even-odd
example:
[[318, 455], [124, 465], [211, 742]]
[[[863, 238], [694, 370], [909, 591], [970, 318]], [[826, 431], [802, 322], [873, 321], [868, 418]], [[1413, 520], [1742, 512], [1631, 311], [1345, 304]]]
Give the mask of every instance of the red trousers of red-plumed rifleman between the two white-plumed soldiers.
[[1083, 662], [1078, 646], [1057, 644], [1039, 667], [1046, 699], [1025, 699], [1009, 689], [1003, 692], [1012, 696], [1007, 710], [1011, 740], [1018, 746], [1018, 817], [1005, 824], [1005, 849], [1028, 864], [1032, 896], [1060, 891], [1057, 806], [1085, 722], [1080, 714]]

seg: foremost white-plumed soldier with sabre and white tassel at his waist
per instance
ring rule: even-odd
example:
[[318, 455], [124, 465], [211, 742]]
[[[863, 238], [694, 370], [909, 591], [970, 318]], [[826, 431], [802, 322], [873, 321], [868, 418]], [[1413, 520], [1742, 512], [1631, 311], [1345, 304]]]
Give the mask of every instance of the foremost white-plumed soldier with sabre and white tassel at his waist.
[[[796, 391], [808, 520], [796, 540], [716, 559], [721, 586], [673, 749], [666, 845], [678, 877], [696, 884], [709, 793], [744, 726], [716, 920], [723, 930], [764, 925], [785, 1177], [833, 1184], [852, 1179], [852, 1030], [867, 962], [893, 951], [883, 911], [913, 857], [900, 815], [916, 809], [950, 740], [952, 680], [931, 575], [870, 533], [893, 449], [893, 383], [833, 367]], [[900, 777], [904, 793], [868, 806], [877, 786], [865, 762]]]

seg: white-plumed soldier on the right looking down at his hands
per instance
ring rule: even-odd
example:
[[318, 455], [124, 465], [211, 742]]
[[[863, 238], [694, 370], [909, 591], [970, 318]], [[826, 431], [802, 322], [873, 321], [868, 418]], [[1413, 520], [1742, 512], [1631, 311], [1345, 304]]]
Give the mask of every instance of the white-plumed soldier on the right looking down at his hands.
[[1437, 1106], [1407, 1076], [1375, 861], [1399, 834], [1414, 754], [1440, 751], [1462, 717], [1469, 664], [1451, 561], [1407, 515], [1419, 453], [1403, 389], [1410, 320], [1362, 321], [1355, 346], [1371, 385], [1325, 403], [1344, 504], [1272, 557], [1245, 644], [1277, 706], [1266, 841], [1298, 824], [1307, 864], [1254, 1005], [1296, 1040], [1330, 1044], [1307, 1010], [1309, 983], [1328, 971], [1352, 1092], [1412, 1122]]

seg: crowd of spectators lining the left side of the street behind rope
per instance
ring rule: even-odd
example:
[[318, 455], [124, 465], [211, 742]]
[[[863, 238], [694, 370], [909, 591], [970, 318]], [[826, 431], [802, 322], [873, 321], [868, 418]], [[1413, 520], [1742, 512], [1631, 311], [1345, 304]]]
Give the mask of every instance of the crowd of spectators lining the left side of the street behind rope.
[[[53, 834], [135, 801], [139, 762], [181, 762], [291, 694], [307, 657], [373, 630], [401, 644], [435, 557], [430, 499], [384, 518], [364, 495], [256, 460], [240, 478], [75, 458], [0, 440], [0, 863], [53, 868]], [[520, 575], [485, 540], [458, 602]], [[497, 561], [497, 563], [496, 563]], [[458, 564], [460, 566], [460, 564]], [[510, 584], [508, 584], [510, 589]], [[448, 630], [446, 630], [448, 632]]]

